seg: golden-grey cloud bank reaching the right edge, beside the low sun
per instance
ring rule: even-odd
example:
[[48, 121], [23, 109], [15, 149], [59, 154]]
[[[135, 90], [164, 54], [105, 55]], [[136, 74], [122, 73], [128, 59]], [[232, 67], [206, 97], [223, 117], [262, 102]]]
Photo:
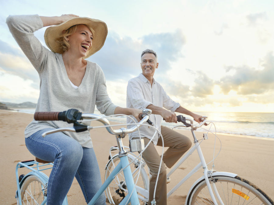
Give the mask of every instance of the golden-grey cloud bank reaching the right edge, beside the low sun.
[[234, 71], [233, 75], [227, 75], [217, 82], [223, 93], [227, 94], [231, 90], [237, 94], [263, 94], [274, 89], [274, 56], [268, 53], [261, 61], [262, 70], [256, 70], [248, 66], [230, 66], [226, 71]]

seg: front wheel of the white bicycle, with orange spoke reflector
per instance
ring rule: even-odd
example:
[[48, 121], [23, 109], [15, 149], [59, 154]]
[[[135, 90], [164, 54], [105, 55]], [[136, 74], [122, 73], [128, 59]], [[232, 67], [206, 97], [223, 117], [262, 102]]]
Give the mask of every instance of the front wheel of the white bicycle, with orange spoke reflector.
[[[215, 185], [224, 204], [268, 204], [273, 201], [257, 186], [239, 176], [213, 176]], [[209, 177], [213, 184], [213, 180]], [[216, 197], [217, 203], [220, 204]], [[199, 181], [191, 190], [186, 204], [213, 204], [206, 186], [206, 180]]]

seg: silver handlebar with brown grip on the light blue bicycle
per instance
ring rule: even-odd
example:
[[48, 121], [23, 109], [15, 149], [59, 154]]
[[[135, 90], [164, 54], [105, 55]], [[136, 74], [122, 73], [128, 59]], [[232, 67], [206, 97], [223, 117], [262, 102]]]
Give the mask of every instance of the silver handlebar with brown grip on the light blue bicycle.
[[76, 109], [69, 109], [67, 111], [63, 112], [35, 112], [34, 113], [34, 119], [35, 120], [47, 120], [47, 121], [54, 121], [54, 120], [62, 120], [66, 121], [68, 123], [73, 123], [73, 127], [70, 128], [58, 128], [55, 130], [50, 130], [47, 132], [44, 132], [42, 134], [43, 137], [46, 135], [55, 133], [55, 132], [63, 132], [63, 131], [69, 131], [69, 132], [83, 132], [92, 129], [91, 126], [82, 125], [78, 122], [78, 120], [82, 119], [97, 119], [97, 121], [100, 121], [104, 125], [107, 125], [106, 127], [107, 131], [113, 135], [126, 135], [128, 133], [135, 132], [138, 127], [143, 124], [144, 122], [148, 121], [149, 115], [151, 114], [151, 110], [149, 109], [143, 109], [142, 110], [142, 120], [137, 123], [132, 128], [126, 129], [126, 128], [120, 128], [118, 130], [114, 130], [110, 125], [109, 121], [105, 118], [102, 118], [101, 115], [98, 114], [86, 114], [81, 113]]

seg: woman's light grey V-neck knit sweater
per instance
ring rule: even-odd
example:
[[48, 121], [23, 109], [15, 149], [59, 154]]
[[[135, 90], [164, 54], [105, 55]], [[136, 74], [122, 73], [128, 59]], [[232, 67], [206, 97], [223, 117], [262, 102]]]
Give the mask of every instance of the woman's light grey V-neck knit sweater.
[[[70, 84], [62, 55], [53, 53], [40, 43], [33, 32], [43, 27], [38, 15], [9, 16], [6, 19], [9, 30], [40, 77], [40, 95], [36, 111], [65, 111], [76, 108], [84, 113], [93, 113], [95, 105], [105, 115], [114, 114], [117, 107], [107, 94], [105, 76], [96, 64], [87, 61], [86, 73], [80, 86]], [[35, 121], [26, 127], [25, 137], [45, 128], [71, 127], [63, 121]], [[83, 147], [92, 148], [88, 131], [65, 132]]]

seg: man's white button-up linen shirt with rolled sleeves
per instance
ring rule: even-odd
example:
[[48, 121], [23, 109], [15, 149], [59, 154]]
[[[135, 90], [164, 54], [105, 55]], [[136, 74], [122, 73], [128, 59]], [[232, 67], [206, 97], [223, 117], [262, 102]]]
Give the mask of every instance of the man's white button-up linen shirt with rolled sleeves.
[[[128, 81], [127, 87], [127, 108], [136, 108], [136, 109], [144, 109], [149, 105], [155, 105], [160, 108], [166, 108], [172, 112], [175, 112], [177, 108], [180, 107], [179, 103], [171, 100], [170, 97], [163, 90], [163, 87], [154, 80], [152, 86], [149, 80], [140, 73], [139, 76], [132, 78]], [[131, 115], [131, 117], [133, 117]], [[133, 117], [134, 118], [134, 117]], [[163, 120], [162, 116], [159, 114], [151, 114], [149, 116], [149, 120], [152, 121], [161, 131], [161, 122]], [[132, 121], [132, 119], [127, 118], [127, 123], [136, 123]], [[132, 125], [128, 125], [128, 128], [131, 128]], [[147, 137], [149, 139], [152, 138], [155, 129], [150, 128], [148, 126], [140, 126], [139, 127], [141, 137]], [[153, 138], [153, 144], [157, 145], [158, 138], [160, 135], [156, 134]], [[138, 137], [138, 130], [129, 134], [129, 139]]]

